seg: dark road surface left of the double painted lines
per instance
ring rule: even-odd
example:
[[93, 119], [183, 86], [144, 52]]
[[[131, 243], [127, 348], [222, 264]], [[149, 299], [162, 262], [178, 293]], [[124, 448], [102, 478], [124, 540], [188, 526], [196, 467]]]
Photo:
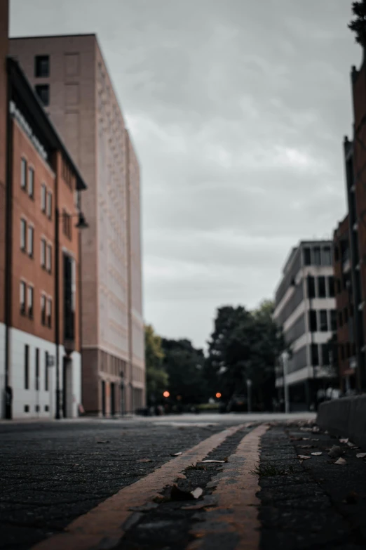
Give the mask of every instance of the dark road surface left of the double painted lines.
[[314, 415], [1, 422], [0, 549], [29, 549], [228, 426], [289, 418]]

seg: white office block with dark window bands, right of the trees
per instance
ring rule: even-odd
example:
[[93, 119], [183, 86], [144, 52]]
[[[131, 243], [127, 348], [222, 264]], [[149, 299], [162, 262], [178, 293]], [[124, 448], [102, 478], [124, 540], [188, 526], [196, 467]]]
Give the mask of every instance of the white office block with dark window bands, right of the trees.
[[[291, 355], [285, 372], [291, 410], [310, 409], [332, 377], [329, 341], [337, 329], [331, 241], [303, 241], [292, 249], [275, 297], [274, 319]], [[276, 387], [283, 388], [283, 370]]]

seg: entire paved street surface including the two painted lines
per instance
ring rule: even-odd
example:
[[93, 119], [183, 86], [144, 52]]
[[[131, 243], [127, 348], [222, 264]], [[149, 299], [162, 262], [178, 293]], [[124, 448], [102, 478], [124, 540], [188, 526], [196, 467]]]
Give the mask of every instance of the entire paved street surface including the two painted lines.
[[[361, 450], [313, 419], [1, 423], [0, 549], [364, 548]], [[334, 443], [346, 464], [328, 456]]]

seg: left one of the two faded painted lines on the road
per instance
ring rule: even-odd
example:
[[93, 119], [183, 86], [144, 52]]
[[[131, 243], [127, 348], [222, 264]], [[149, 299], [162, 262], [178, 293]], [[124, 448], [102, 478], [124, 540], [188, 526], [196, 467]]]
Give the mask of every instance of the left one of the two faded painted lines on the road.
[[109, 549], [118, 544], [125, 530], [123, 525], [133, 514], [130, 508], [143, 506], [152, 502], [165, 485], [172, 484], [179, 473], [182, 473], [194, 462], [199, 462], [221, 445], [224, 440], [233, 436], [238, 430], [251, 426], [250, 423], [232, 426], [215, 433], [198, 445], [183, 452], [180, 457], [165, 462], [163, 466], [149, 473], [148, 476], [101, 502], [70, 523], [65, 531], [49, 537], [32, 546], [31, 550], [97, 550]]

